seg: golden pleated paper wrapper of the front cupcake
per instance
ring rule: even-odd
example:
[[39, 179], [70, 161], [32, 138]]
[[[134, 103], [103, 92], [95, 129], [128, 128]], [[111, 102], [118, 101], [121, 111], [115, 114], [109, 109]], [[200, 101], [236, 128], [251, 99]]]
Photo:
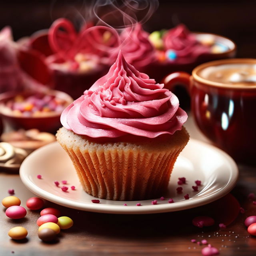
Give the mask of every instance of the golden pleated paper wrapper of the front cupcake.
[[82, 152], [78, 147], [68, 148], [62, 144], [84, 190], [109, 200], [145, 200], [161, 196], [184, 146], [155, 153], [133, 150]]

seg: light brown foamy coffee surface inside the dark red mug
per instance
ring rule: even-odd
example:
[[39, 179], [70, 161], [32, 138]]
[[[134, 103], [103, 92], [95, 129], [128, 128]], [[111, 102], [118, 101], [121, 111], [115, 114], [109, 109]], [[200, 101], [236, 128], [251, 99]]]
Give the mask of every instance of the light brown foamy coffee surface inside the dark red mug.
[[210, 66], [198, 73], [212, 82], [224, 84], [256, 84], [256, 64], [234, 63]]

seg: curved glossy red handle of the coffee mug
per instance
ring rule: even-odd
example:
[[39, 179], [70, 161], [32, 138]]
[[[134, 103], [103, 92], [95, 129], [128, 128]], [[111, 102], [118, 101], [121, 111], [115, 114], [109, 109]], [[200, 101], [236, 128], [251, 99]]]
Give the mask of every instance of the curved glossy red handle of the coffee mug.
[[190, 74], [184, 71], [178, 71], [173, 72], [165, 76], [162, 80], [162, 83], [164, 84], [164, 88], [173, 91], [174, 87], [178, 84], [181, 86], [184, 86], [184, 88], [187, 90], [188, 94], [190, 95]]

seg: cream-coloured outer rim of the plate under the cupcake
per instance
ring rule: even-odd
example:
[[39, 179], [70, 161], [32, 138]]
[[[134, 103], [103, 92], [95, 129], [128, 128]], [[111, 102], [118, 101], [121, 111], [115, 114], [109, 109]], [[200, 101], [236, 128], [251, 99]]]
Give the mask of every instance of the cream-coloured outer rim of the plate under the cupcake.
[[[192, 139], [190, 138], [189, 143], [196, 143], [201, 144], [204, 147], [211, 148], [212, 150], [217, 151], [219, 154], [221, 154], [228, 164], [231, 167], [229, 178], [225, 184], [220, 190], [216, 191], [214, 194], [211, 194], [210, 196], [206, 196], [203, 198], [192, 198], [190, 200], [182, 200], [173, 204], [156, 204], [154, 207], [152, 205], [144, 205], [143, 201], [140, 200], [140, 203], [142, 206], [126, 206], [123, 205], [114, 205], [114, 204], [93, 204], [93, 203], [80, 203], [72, 201], [72, 199], [66, 199], [59, 196], [56, 196], [46, 190], [43, 190], [42, 188], [36, 186], [32, 182], [32, 180], [29, 179], [28, 175], [26, 175], [26, 163], [30, 161], [30, 158], [33, 158], [34, 154], [40, 154], [41, 151], [46, 150], [46, 148], [53, 147], [54, 145], [58, 144], [58, 142], [52, 142], [46, 146], [43, 146], [34, 152], [32, 152], [21, 164], [20, 166], [20, 178], [23, 182], [23, 184], [34, 194], [37, 196], [40, 196], [50, 202], [54, 202], [56, 204], [66, 206], [69, 208], [77, 209], [77, 210], [84, 210], [84, 211], [90, 211], [90, 212], [100, 212], [100, 213], [110, 213], [110, 214], [153, 214], [153, 213], [161, 213], [161, 212], [174, 212], [179, 210], [186, 210], [198, 206], [202, 206], [204, 204], [208, 204], [210, 202], [213, 202], [215, 200], [218, 200], [219, 198], [225, 196], [228, 194], [232, 188], [236, 185], [236, 182], [238, 180], [238, 167], [234, 160], [226, 154], [224, 151], [220, 150], [219, 148], [216, 148], [215, 146], [212, 146], [211, 144], [208, 144], [206, 142], [202, 142], [200, 140]], [[181, 153], [182, 154], [182, 153]], [[102, 200], [102, 199], [101, 199]], [[106, 200], [107, 202], [111, 202], [111, 200]], [[121, 201], [125, 202], [125, 201]], [[128, 202], [138, 202], [138, 201], [128, 201]]]

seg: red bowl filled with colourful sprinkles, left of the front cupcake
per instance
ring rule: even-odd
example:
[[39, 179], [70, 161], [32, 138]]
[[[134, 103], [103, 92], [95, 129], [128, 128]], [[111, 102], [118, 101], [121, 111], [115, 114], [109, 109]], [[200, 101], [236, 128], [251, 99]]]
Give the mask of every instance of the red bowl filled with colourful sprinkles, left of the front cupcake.
[[56, 132], [61, 126], [60, 114], [72, 101], [57, 90], [6, 92], [0, 94], [0, 115], [4, 127]]

